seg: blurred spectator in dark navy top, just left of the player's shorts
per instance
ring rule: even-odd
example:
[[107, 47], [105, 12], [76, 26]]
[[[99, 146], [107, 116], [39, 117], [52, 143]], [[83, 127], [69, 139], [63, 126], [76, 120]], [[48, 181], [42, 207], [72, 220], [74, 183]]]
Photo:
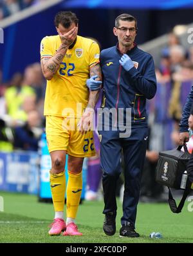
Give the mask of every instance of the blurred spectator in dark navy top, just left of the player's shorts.
[[41, 117], [39, 113], [35, 110], [28, 112], [26, 123], [23, 126], [15, 127], [15, 149], [37, 151], [41, 134]]

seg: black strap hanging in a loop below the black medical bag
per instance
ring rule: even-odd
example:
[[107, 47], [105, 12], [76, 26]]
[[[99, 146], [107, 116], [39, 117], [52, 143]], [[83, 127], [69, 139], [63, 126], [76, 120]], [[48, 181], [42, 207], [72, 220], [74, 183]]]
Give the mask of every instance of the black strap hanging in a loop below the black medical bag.
[[185, 190], [183, 192], [183, 197], [181, 198], [181, 201], [179, 202], [178, 206], [176, 205], [176, 201], [172, 197], [172, 193], [170, 191], [170, 188], [168, 187], [168, 189], [169, 189], [169, 200], [168, 200], [168, 202], [169, 202], [170, 209], [173, 213], [181, 213], [181, 209], [184, 206], [185, 200], [186, 200], [188, 194], [190, 193], [191, 184], [192, 183], [187, 179], [187, 186], [185, 187]]

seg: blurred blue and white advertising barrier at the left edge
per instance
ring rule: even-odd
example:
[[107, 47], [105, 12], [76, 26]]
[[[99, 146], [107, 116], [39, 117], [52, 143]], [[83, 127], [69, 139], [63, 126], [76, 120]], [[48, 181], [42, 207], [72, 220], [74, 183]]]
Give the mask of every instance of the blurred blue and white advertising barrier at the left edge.
[[35, 152], [0, 153], [0, 190], [37, 195], [39, 155]]

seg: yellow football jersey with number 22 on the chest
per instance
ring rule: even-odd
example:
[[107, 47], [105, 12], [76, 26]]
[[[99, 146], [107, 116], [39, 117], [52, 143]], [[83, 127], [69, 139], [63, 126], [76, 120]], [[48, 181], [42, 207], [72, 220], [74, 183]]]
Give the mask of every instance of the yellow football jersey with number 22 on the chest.
[[[41, 58], [54, 56], [60, 45], [59, 36], [44, 37], [41, 41]], [[99, 54], [100, 50], [95, 41], [77, 36], [75, 45], [67, 50], [59, 70], [47, 81], [45, 116], [82, 115], [89, 98], [89, 89], [86, 86], [89, 68], [99, 63]]]

